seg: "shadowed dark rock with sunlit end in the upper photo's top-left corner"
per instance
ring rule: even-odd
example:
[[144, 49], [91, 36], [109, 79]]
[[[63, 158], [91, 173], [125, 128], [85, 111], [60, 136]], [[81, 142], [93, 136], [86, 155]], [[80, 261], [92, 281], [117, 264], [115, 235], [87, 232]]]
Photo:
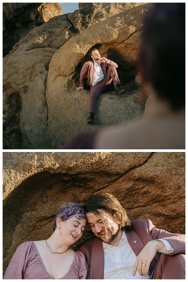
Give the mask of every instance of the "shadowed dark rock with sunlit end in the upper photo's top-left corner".
[[20, 38], [61, 12], [60, 3], [3, 3], [3, 57]]

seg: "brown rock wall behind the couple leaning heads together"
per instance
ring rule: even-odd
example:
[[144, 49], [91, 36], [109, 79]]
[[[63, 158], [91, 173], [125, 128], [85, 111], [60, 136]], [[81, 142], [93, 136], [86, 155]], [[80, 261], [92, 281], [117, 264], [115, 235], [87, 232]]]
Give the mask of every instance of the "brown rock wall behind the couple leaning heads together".
[[[98, 191], [116, 196], [131, 219], [185, 232], [185, 153], [3, 153], [3, 178], [4, 271], [19, 244], [52, 234], [63, 202]], [[79, 242], [87, 237], [89, 228]]]

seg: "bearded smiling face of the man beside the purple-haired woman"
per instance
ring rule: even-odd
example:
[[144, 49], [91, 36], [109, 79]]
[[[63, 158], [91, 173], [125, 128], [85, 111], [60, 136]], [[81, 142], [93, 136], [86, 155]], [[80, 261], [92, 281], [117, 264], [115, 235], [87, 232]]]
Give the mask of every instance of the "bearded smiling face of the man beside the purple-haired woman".
[[[101, 212], [101, 210], [100, 210]], [[108, 232], [107, 236], [105, 237], [105, 226], [100, 218], [98, 218], [94, 213], [87, 213], [87, 220], [89, 225], [91, 226], [92, 232], [105, 243], [112, 242], [119, 233], [119, 226], [116, 222], [114, 222], [113, 218], [106, 212], [103, 212], [103, 219], [107, 226]]]

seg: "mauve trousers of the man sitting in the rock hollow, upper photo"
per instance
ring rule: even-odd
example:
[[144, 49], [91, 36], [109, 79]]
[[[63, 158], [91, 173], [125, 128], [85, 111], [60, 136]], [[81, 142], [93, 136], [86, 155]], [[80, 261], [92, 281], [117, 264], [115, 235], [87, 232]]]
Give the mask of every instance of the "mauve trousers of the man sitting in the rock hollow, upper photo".
[[99, 81], [97, 84], [91, 86], [90, 88], [90, 93], [91, 93], [91, 98], [90, 98], [90, 109], [89, 112], [95, 113], [96, 110], [96, 102], [99, 94], [108, 86], [110, 83], [114, 82], [114, 86], [116, 84], [121, 84], [118, 78], [118, 74], [116, 71], [116, 68], [113, 66], [110, 66], [106, 76], [103, 78], [103, 80]]

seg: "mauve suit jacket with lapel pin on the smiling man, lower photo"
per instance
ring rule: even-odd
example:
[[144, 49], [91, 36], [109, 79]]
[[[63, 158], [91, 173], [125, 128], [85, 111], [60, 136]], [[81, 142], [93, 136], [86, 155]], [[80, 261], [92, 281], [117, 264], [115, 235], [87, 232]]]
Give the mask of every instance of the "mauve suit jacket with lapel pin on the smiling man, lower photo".
[[[155, 228], [151, 220], [134, 220], [132, 221], [133, 230], [126, 231], [127, 240], [138, 256], [144, 246], [155, 239], [167, 240], [174, 254], [185, 254], [185, 235], [173, 234], [165, 230]], [[134, 243], [136, 241], [136, 243]], [[76, 251], [81, 251], [88, 262], [90, 268], [90, 279], [104, 279], [104, 251], [103, 243], [97, 237], [89, 238], [76, 247]], [[152, 273], [157, 261], [162, 253], [156, 252], [153, 260], [150, 263], [149, 272]]]

